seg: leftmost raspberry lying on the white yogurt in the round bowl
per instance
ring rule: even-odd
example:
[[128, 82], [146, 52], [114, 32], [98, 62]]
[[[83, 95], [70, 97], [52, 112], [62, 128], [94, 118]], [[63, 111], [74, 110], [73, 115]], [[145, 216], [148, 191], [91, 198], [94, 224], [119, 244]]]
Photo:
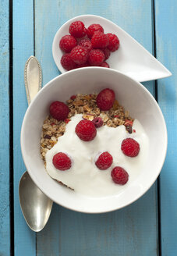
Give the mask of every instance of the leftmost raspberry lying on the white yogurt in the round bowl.
[[71, 159], [65, 153], [59, 152], [53, 157], [53, 165], [56, 169], [65, 171], [71, 168]]

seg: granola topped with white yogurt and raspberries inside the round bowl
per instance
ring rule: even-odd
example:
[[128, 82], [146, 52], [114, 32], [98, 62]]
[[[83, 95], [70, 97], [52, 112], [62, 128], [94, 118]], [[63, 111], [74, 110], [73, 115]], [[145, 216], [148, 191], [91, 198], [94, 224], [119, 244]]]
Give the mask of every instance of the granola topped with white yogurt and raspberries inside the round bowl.
[[[51, 178], [81, 194], [107, 196], [133, 180], [147, 157], [148, 138], [106, 88], [54, 101], [41, 133]], [[131, 176], [129, 176], [131, 173]]]

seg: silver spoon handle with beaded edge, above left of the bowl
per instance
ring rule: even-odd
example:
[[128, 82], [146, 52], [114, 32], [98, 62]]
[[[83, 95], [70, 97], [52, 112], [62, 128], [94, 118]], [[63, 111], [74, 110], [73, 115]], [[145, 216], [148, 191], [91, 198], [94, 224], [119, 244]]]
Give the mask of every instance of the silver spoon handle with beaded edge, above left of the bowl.
[[37, 58], [30, 56], [27, 60], [25, 69], [24, 69], [24, 81], [25, 88], [27, 93], [28, 105], [34, 99], [37, 92], [41, 89], [42, 83], [42, 71], [41, 65], [38, 62]]

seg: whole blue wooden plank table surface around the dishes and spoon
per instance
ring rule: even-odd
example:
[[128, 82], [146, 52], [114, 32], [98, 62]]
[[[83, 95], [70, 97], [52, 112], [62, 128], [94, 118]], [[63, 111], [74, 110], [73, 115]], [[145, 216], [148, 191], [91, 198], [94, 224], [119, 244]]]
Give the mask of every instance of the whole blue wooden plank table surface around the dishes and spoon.
[[[0, 255], [177, 255], [177, 2], [175, 0], [0, 0]], [[87, 215], [55, 204], [47, 226], [32, 232], [19, 208], [25, 170], [19, 134], [27, 98], [23, 69], [36, 55], [43, 85], [58, 75], [52, 39], [81, 14], [118, 24], [173, 75], [143, 83], [158, 100], [168, 128], [168, 152], [158, 181], [119, 211]]]

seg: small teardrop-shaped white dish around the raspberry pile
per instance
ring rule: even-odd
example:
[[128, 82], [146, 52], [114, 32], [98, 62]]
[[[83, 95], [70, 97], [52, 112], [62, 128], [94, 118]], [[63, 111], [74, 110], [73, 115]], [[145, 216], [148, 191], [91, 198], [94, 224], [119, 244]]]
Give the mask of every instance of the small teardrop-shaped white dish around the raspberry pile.
[[104, 28], [104, 33], [116, 34], [119, 37], [119, 49], [116, 52], [112, 52], [108, 59], [108, 63], [112, 69], [125, 73], [139, 82], [172, 76], [172, 73], [158, 59], [155, 59], [150, 52], [143, 48], [126, 31], [122, 30], [122, 28], [112, 21], [95, 15], [76, 16], [63, 24], [55, 34], [52, 44], [52, 54], [55, 64], [61, 73], [65, 73], [66, 70], [63, 69], [60, 63], [63, 52], [59, 48], [59, 41], [65, 34], [69, 34], [69, 25], [76, 20], [83, 21], [86, 27], [93, 23], [99, 23]]

